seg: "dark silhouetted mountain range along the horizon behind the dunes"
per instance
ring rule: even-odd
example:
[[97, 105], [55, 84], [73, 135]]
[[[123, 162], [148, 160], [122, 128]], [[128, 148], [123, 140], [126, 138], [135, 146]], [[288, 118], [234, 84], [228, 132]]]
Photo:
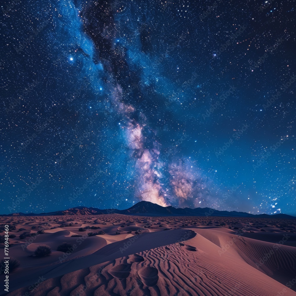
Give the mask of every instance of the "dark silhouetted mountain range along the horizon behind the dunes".
[[173, 206], [162, 207], [152, 202], [141, 201], [133, 205], [126, 210], [117, 209], [105, 209], [100, 210], [94, 207], [73, 207], [64, 211], [56, 211], [50, 213], [12, 213], [4, 214], [0, 216], [63, 216], [63, 215], [102, 215], [102, 214], [123, 214], [123, 215], [136, 215], [136, 216], [213, 216], [213, 217], [254, 217], [254, 218], [289, 218], [296, 219], [296, 217], [286, 215], [286, 214], [276, 214], [276, 215], [253, 215], [244, 212], [236, 211], [218, 211], [211, 209], [209, 207], [201, 208], [197, 207], [191, 209], [189, 207], [175, 208]]

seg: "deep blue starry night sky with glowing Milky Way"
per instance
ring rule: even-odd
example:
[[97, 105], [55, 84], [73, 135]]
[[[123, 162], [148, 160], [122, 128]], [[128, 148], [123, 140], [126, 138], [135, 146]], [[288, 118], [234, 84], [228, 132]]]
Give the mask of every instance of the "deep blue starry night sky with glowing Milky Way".
[[295, 215], [295, 9], [277, 1], [1, 6], [1, 213]]

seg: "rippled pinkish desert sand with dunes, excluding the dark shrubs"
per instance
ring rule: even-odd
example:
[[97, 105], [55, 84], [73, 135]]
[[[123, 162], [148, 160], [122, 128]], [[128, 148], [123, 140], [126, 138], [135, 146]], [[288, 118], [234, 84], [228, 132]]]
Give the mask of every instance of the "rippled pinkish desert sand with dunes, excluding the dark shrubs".
[[[9, 256], [20, 262], [9, 273], [9, 296], [296, 296], [296, 219], [110, 214], [0, 222], [16, 236]], [[63, 242], [71, 252], [57, 251]], [[42, 244], [52, 253], [34, 257]]]

